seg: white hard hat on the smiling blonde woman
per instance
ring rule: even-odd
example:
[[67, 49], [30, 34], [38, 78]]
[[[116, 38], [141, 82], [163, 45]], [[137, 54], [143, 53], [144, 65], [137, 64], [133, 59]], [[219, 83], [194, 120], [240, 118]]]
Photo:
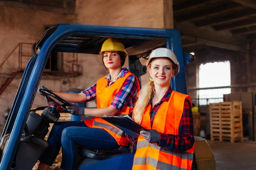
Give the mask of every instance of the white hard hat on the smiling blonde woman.
[[174, 75], [177, 75], [180, 72], [180, 64], [177, 60], [176, 55], [173, 53], [173, 51], [171, 51], [170, 49], [167, 48], [158, 48], [153, 50], [148, 58], [148, 61], [146, 63], [146, 66], [148, 66], [150, 60], [152, 60], [153, 58], [169, 58], [173, 61], [174, 64], [177, 65], [177, 69], [175, 70]]

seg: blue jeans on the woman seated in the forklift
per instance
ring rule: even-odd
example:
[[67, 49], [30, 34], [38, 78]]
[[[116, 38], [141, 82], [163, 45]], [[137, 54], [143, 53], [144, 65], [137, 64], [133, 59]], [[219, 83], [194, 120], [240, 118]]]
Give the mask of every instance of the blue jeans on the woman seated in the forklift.
[[47, 142], [49, 146], [40, 162], [52, 166], [62, 147], [63, 170], [74, 170], [77, 145], [95, 150], [112, 150], [119, 147], [115, 138], [101, 128], [90, 128], [83, 121], [59, 121], [54, 124]]

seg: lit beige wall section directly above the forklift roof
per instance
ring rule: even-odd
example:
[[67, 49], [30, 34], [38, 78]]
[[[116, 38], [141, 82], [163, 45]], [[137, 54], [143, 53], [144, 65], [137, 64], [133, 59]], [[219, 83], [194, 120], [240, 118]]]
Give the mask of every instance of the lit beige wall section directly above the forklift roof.
[[77, 22], [173, 28], [172, 0], [77, 0]]

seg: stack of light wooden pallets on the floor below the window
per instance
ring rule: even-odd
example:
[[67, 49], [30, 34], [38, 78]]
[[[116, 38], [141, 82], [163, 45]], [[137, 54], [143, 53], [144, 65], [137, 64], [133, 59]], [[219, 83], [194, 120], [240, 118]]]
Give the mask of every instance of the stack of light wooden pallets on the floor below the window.
[[242, 102], [213, 103], [209, 109], [211, 141], [243, 142]]

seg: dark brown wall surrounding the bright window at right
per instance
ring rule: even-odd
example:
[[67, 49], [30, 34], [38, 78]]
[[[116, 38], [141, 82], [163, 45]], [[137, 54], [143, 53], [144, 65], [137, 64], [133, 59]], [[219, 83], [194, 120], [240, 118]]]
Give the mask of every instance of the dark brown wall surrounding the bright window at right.
[[[198, 66], [202, 63], [206, 62], [216, 62], [216, 61], [230, 61], [230, 69], [231, 69], [231, 85], [250, 85], [256, 84], [255, 78], [255, 54], [256, 51], [254, 48], [255, 41], [251, 40], [248, 42], [248, 51], [246, 53], [238, 53], [236, 51], [228, 51], [221, 50], [216, 48], [207, 48], [200, 51], [195, 51], [195, 60], [191, 64], [185, 67], [186, 69], [186, 80], [187, 80], [187, 88], [188, 94], [191, 99], [196, 99], [197, 94], [196, 91], [190, 91], [189, 88], [194, 88], [197, 85], [197, 73]], [[249, 50], [250, 49], [250, 50]], [[216, 71], [218, 68], [214, 68], [212, 72]], [[219, 75], [220, 77], [222, 75]], [[238, 87], [231, 88], [231, 93], [243, 93], [243, 92], [256, 92], [256, 87], [248, 86], [248, 87]], [[250, 98], [244, 99], [243, 102], [248, 102], [248, 108], [246, 110], [253, 110], [252, 102]], [[251, 106], [251, 108], [249, 108]], [[201, 129], [204, 130], [207, 137], [210, 137], [210, 121], [209, 121], [209, 106], [200, 106], [201, 112]], [[251, 116], [248, 117], [246, 113], [243, 115], [243, 126], [244, 126], [244, 135], [247, 136], [249, 134], [249, 139], [252, 139], [252, 122], [253, 118]], [[255, 122], [256, 120], [254, 120]]]

